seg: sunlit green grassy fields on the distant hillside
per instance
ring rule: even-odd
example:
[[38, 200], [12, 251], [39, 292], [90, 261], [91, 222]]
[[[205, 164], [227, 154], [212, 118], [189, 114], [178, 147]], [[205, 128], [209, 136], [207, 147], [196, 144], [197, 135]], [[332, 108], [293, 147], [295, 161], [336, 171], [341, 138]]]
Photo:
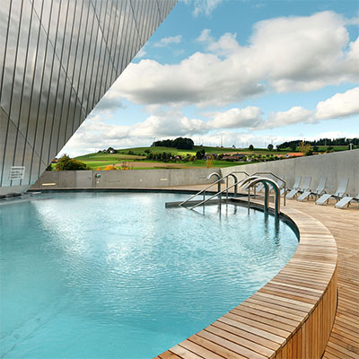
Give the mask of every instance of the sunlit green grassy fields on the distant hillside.
[[[250, 151], [248, 148], [235, 149], [232, 147], [220, 148], [220, 147], [209, 147], [209, 146], [194, 146], [192, 150], [178, 150], [173, 147], [135, 147], [118, 150], [118, 153], [89, 153], [83, 156], [75, 157], [76, 160], [85, 162], [92, 170], [101, 169], [103, 170], [106, 166], [115, 164], [117, 167], [121, 165], [127, 165], [130, 169], [154, 169], [154, 168], [196, 168], [206, 167], [207, 163], [205, 160], [195, 160], [193, 162], [156, 162], [149, 161], [146, 159], [145, 151], [149, 150], [152, 153], [171, 153], [172, 155], [181, 155], [186, 157], [187, 154], [195, 156], [197, 151], [204, 149], [206, 153], [244, 153], [248, 155], [278, 155], [285, 153], [293, 153], [294, 151], [290, 148], [286, 148], [281, 151], [273, 150], [269, 151], [266, 148], [254, 148]], [[319, 151], [327, 151], [328, 146], [320, 146]], [[347, 146], [333, 146], [334, 151], [346, 150]], [[138, 165], [137, 165], [138, 163]], [[211, 163], [211, 167], [231, 167], [243, 164], [243, 162], [227, 162], [214, 160]]]

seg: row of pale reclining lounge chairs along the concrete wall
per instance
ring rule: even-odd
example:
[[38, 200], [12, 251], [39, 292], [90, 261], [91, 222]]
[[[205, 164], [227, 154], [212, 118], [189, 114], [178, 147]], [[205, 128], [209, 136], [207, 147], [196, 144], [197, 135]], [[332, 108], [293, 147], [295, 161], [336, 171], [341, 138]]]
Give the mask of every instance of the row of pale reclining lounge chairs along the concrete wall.
[[356, 197], [351, 197], [346, 193], [348, 183], [348, 179], [340, 180], [337, 191], [333, 194], [329, 194], [326, 192], [326, 188], [330, 188], [326, 186], [326, 177], [320, 178], [318, 187], [316, 189], [310, 189], [311, 177], [304, 177], [302, 179], [301, 176], [297, 176], [293, 188], [289, 189], [289, 192], [285, 197], [293, 199], [298, 196], [296, 198], [298, 201], [309, 199], [309, 197], [315, 197], [315, 204], [320, 206], [327, 205], [330, 198], [335, 198], [337, 200], [337, 204], [335, 205], [336, 208], [344, 208], [345, 206], [349, 206], [352, 200], [359, 202], [359, 195]]

